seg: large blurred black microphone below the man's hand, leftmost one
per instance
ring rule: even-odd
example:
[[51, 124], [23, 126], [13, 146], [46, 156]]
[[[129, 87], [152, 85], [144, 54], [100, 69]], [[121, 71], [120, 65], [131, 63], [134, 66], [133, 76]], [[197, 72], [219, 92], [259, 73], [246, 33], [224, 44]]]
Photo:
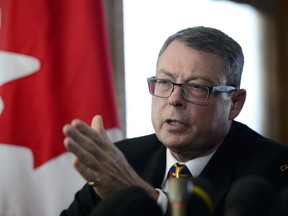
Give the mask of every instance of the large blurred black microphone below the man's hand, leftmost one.
[[162, 216], [156, 201], [140, 187], [129, 187], [115, 192], [102, 200], [92, 211], [91, 216]]

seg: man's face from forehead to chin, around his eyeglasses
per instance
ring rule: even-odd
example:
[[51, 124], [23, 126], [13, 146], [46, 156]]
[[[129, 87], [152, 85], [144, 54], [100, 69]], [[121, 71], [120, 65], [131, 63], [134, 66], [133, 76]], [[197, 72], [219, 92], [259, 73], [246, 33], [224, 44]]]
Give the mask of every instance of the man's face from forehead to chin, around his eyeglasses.
[[[158, 59], [156, 77], [176, 83], [226, 85], [223, 60], [173, 41]], [[212, 92], [204, 104], [188, 103], [176, 86], [169, 98], [152, 97], [152, 123], [158, 139], [188, 160], [221, 143], [230, 125], [231, 94]]]

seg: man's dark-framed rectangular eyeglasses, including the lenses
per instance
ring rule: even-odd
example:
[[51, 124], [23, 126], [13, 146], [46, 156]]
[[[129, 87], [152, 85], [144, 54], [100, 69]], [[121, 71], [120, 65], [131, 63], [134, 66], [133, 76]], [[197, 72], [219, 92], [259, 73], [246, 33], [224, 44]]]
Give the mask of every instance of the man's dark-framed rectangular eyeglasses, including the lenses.
[[151, 95], [160, 98], [168, 98], [175, 89], [175, 86], [181, 88], [183, 98], [189, 103], [205, 103], [211, 92], [231, 92], [237, 91], [234, 86], [204, 86], [194, 83], [174, 83], [166, 79], [157, 79], [151, 77], [147, 79], [149, 92]]

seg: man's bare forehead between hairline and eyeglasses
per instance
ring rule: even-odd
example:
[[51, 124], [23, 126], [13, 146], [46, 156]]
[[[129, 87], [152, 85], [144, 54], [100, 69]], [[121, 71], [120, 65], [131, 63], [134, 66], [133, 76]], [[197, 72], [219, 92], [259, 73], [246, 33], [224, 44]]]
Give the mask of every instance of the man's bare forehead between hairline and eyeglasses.
[[203, 78], [212, 84], [224, 84], [224, 62], [214, 53], [187, 47], [173, 41], [159, 56], [156, 76], [171, 76], [178, 81]]

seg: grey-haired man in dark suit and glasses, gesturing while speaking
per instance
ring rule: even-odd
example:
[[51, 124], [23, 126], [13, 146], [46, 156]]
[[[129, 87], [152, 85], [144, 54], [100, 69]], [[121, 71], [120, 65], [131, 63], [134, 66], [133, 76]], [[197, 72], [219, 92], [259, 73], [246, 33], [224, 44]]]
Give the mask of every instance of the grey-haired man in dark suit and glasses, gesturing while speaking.
[[63, 129], [75, 167], [88, 181], [62, 215], [90, 215], [110, 194], [143, 188], [167, 210], [167, 173], [179, 162], [215, 192], [214, 215], [223, 214], [225, 195], [236, 180], [259, 175], [278, 189], [288, 185], [288, 148], [235, 122], [246, 97], [240, 89], [244, 57], [223, 32], [188, 28], [170, 36], [148, 79], [155, 134], [109, 141], [101, 116], [89, 127], [74, 120]]

